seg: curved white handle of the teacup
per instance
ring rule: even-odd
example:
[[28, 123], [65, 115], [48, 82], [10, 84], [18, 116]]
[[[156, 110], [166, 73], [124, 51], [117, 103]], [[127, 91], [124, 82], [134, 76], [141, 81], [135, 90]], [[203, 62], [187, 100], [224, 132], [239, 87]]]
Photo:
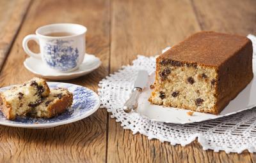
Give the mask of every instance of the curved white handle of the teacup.
[[35, 34], [29, 34], [28, 36], [26, 36], [23, 41], [22, 41], [22, 46], [24, 51], [30, 56], [30, 57], [35, 57], [38, 59], [41, 59], [41, 54], [40, 53], [34, 53], [32, 52], [29, 47], [28, 47], [28, 41], [30, 40], [34, 40], [36, 41], [36, 43], [39, 45], [39, 39], [38, 36], [36, 36]]

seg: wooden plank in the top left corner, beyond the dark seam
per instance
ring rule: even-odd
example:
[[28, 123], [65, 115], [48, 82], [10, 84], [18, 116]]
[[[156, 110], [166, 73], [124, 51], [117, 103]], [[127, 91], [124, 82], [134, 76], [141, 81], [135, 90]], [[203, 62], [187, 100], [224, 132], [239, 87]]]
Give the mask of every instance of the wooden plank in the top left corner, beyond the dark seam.
[[30, 0], [0, 1], [0, 71], [29, 3]]

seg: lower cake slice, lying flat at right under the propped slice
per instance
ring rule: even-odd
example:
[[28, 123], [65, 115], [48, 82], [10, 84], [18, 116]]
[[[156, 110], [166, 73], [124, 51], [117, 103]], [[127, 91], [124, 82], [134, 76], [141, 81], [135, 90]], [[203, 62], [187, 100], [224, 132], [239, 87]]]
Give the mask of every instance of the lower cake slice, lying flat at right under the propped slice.
[[51, 118], [63, 113], [73, 103], [73, 94], [67, 89], [51, 89], [48, 97], [42, 99], [42, 103], [33, 108], [28, 115], [38, 118]]

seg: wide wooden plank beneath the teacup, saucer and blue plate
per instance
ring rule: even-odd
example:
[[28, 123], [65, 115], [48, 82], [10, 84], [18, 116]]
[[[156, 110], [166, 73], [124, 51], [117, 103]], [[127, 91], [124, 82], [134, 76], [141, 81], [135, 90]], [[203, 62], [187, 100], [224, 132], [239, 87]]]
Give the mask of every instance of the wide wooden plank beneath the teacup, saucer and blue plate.
[[[0, 87], [29, 80], [34, 74], [23, 66], [22, 39], [37, 27], [70, 22], [88, 27], [88, 53], [102, 60], [96, 71], [68, 83], [97, 90], [109, 69], [109, 1], [33, 1], [10, 55], [0, 73]], [[35, 48], [37, 45], [32, 45]], [[105, 162], [107, 113], [98, 110], [84, 120], [52, 129], [19, 129], [0, 126], [0, 162]]]

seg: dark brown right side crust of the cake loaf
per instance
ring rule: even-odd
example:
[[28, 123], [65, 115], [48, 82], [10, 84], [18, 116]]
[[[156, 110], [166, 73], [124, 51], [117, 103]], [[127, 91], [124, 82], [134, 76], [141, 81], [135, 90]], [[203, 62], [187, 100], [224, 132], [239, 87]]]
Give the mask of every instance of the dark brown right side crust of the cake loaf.
[[239, 48], [232, 57], [218, 67], [217, 113], [220, 113], [253, 78], [252, 41], [249, 39], [244, 46]]

